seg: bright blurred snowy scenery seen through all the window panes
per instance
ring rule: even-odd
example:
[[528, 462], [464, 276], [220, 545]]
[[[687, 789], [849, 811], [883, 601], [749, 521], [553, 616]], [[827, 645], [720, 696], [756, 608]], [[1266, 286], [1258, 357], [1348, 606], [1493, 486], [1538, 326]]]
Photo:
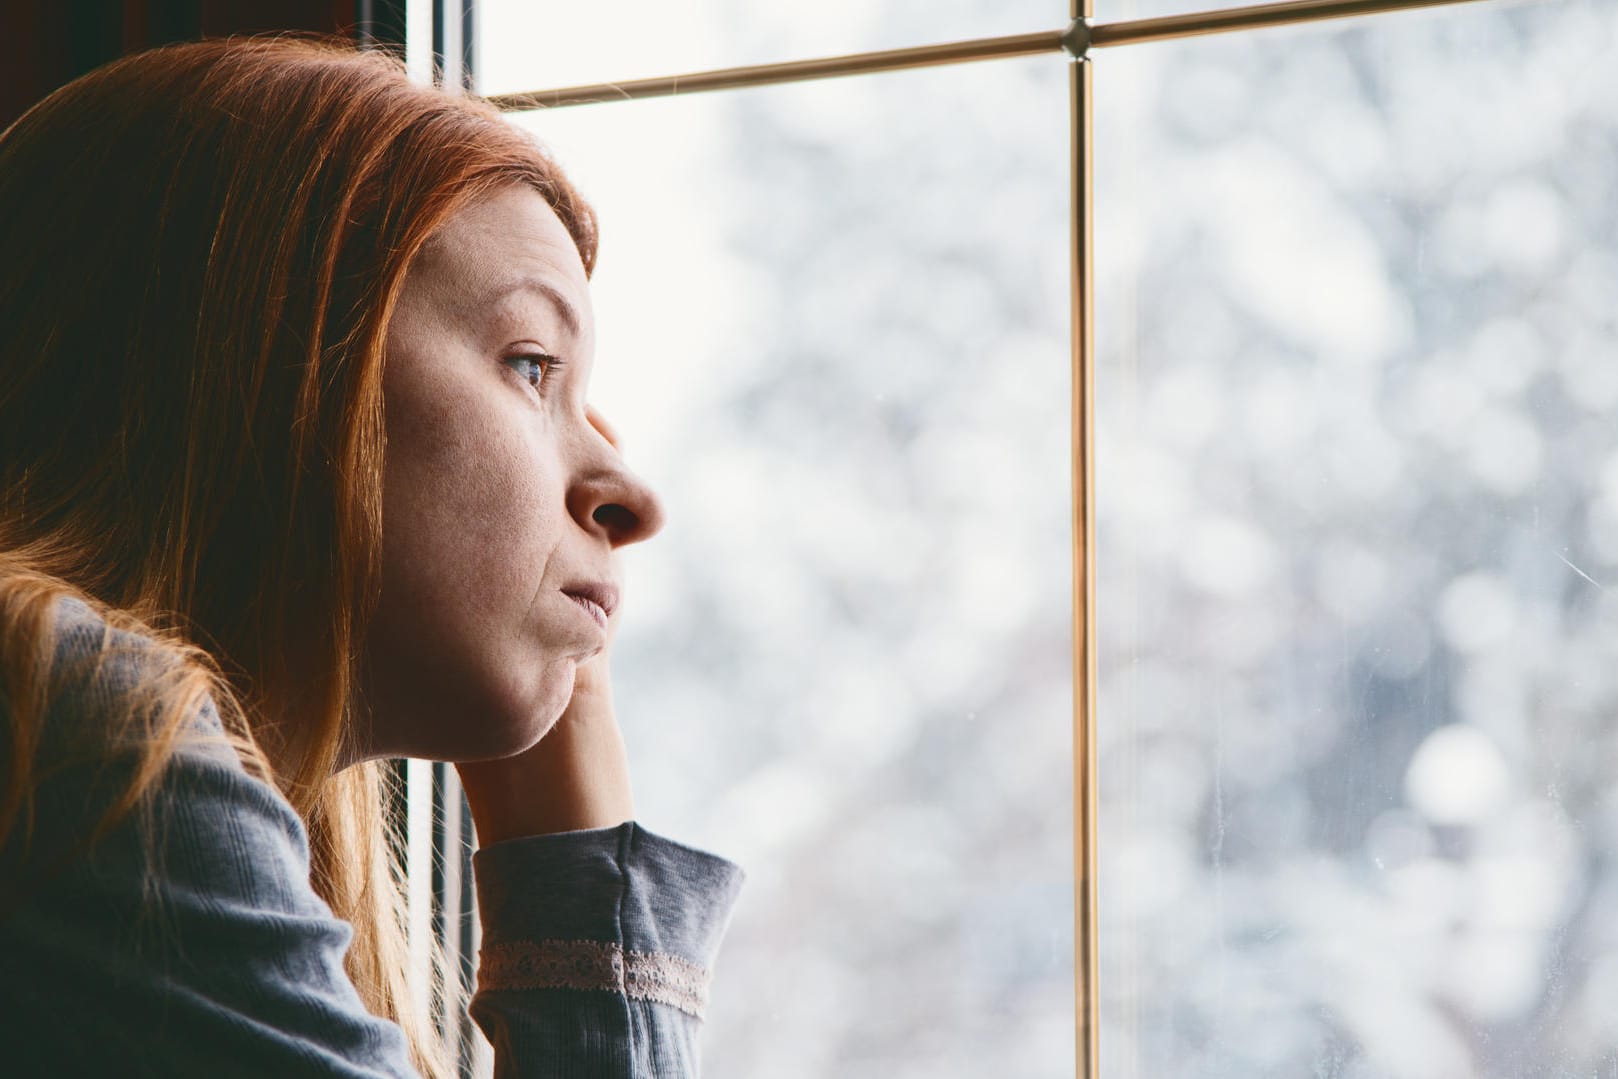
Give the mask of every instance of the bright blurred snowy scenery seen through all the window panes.
[[[487, 94], [1066, 23], [479, 15]], [[1615, 45], [1485, 0], [1095, 57], [1107, 1079], [1618, 1073]], [[521, 120], [670, 508], [642, 820], [749, 872], [717, 1079], [1073, 1074], [1066, 79]]]

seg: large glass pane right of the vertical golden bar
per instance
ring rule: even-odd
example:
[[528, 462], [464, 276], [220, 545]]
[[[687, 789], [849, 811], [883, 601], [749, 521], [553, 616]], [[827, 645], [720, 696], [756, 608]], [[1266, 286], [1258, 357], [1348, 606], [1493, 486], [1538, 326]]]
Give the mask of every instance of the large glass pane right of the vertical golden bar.
[[1095, 61], [1108, 1079], [1618, 1068], [1615, 31]]

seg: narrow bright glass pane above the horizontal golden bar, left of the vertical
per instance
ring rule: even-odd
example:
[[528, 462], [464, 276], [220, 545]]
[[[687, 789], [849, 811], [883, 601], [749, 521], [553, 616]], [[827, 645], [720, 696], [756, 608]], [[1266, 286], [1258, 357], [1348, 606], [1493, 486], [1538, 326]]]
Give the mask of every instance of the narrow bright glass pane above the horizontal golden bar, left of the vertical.
[[477, 0], [477, 87], [510, 94], [1066, 24], [1066, 0]]

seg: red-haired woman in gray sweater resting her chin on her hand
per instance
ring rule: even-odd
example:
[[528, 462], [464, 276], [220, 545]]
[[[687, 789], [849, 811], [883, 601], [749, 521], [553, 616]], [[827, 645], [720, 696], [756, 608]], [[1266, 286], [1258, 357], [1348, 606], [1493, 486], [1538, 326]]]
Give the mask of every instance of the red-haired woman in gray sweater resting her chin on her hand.
[[0, 217], [6, 1074], [453, 1074], [396, 755], [468, 793], [497, 1074], [696, 1074], [741, 872], [633, 822], [616, 552], [663, 513], [555, 163], [388, 57], [210, 40], [0, 134]]

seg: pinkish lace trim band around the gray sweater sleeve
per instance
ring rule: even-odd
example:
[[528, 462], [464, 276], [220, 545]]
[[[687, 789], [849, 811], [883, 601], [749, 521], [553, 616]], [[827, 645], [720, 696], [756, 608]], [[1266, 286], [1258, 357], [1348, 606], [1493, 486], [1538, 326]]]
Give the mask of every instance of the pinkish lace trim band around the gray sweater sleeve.
[[595, 940], [515, 940], [482, 948], [477, 988], [586, 988], [678, 1008], [707, 1008], [705, 967], [663, 951], [629, 951]]

